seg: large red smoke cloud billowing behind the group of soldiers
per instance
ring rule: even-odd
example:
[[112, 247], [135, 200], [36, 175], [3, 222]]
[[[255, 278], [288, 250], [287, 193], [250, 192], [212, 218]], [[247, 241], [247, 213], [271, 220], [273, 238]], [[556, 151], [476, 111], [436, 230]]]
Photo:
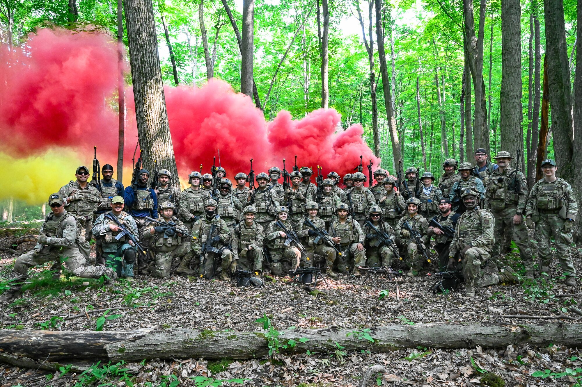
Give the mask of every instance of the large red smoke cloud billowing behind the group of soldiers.
[[[115, 43], [107, 35], [47, 28], [31, 36], [26, 52], [3, 50], [3, 56], [12, 56], [0, 64], [0, 76], [8, 85], [0, 85], [0, 140], [6, 152], [28, 156], [62, 146], [75, 149], [80, 160], [87, 160], [91, 147], [97, 145], [101, 164], [115, 165]], [[129, 164], [136, 128], [131, 89], [126, 94], [125, 160]], [[315, 110], [300, 120], [282, 111], [267, 123], [249, 97], [219, 80], [201, 88], [166, 87], [165, 97], [182, 178], [201, 163], [203, 172], [210, 172], [218, 149], [229, 178], [239, 171], [248, 173], [251, 158], [255, 173], [273, 165], [282, 167], [283, 157], [291, 170], [294, 155], [299, 166], [315, 170], [320, 164], [325, 175], [332, 170], [340, 175], [352, 172], [360, 155], [366, 164], [372, 159], [379, 165], [361, 138], [359, 124], [336, 132], [340, 114], [333, 109]]]

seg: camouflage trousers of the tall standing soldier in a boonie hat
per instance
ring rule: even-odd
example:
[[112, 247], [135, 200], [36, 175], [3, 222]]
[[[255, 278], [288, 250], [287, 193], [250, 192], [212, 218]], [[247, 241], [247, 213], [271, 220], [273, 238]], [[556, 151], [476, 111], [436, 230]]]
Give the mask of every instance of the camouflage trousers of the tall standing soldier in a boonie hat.
[[534, 255], [530, 249], [530, 237], [527, 235], [527, 227], [524, 219], [520, 224], [513, 224], [513, 216], [516, 212], [516, 206], [508, 206], [501, 212], [494, 212], [495, 218], [493, 236], [495, 245], [493, 246], [493, 257], [496, 259], [501, 255], [501, 244], [503, 235], [511, 235], [512, 241], [515, 242], [519, 249], [519, 256], [526, 270], [534, 270]]

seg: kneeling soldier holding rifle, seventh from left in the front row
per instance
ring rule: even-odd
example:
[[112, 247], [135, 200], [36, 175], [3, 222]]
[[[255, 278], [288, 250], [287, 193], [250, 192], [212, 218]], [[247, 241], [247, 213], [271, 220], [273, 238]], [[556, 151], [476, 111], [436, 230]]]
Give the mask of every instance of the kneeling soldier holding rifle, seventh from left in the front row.
[[[325, 179], [328, 180], [328, 179]], [[336, 196], [337, 198], [337, 196]], [[307, 224], [307, 219], [311, 221], [320, 231], [325, 231], [325, 221], [317, 216], [317, 212], [320, 206], [315, 202], [307, 202], [306, 204], [307, 215], [300, 221], [297, 227], [297, 236], [303, 239], [303, 246], [305, 246], [305, 255], [309, 259], [301, 262], [301, 266], [313, 266], [317, 265], [315, 263], [315, 255], [320, 255], [324, 257], [323, 267], [325, 268], [325, 273], [331, 278], [338, 278], [338, 275], [333, 273], [333, 262], [335, 261], [336, 253], [335, 249], [325, 244], [322, 239], [315, 242], [315, 237], [317, 233], [315, 228]]]

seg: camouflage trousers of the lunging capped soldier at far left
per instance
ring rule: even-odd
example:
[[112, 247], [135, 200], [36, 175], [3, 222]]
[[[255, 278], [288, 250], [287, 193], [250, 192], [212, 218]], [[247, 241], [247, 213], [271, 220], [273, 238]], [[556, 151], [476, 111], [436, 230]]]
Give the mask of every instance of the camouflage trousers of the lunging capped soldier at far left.
[[87, 259], [81, 254], [77, 245], [63, 249], [45, 246], [38, 255], [34, 255], [34, 250], [30, 250], [19, 256], [14, 263], [10, 279], [24, 281], [28, 278], [30, 267], [50, 261], [59, 261], [59, 263], [63, 261], [65, 266], [73, 272], [73, 275], [81, 278], [100, 278], [102, 275], [111, 278], [113, 274], [113, 269], [110, 267], [87, 265]]

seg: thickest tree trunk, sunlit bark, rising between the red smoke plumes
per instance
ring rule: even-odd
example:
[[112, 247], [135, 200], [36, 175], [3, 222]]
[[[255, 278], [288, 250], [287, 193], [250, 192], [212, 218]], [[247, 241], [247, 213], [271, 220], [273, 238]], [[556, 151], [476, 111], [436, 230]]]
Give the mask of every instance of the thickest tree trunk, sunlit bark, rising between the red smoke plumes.
[[159, 166], [175, 176], [173, 187], [180, 189], [159, 66], [154, 9], [151, 0], [125, 0], [124, 3], [137, 135], [140, 149], [144, 151], [143, 164], [151, 171], [154, 160], [158, 160]]

